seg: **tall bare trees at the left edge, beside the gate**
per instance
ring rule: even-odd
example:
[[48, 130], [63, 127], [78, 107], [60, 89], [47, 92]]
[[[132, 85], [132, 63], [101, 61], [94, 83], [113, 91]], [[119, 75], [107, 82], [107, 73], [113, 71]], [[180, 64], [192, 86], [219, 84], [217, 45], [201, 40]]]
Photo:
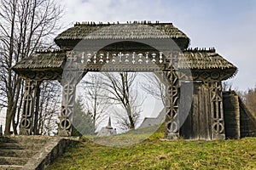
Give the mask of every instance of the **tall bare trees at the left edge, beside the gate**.
[[49, 47], [46, 42], [60, 29], [62, 12], [54, 0], [0, 0], [0, 4], [0, 105], [7, 107], [4, 133], [8, 135], [11, 125], [17, 133], [16, 111], [23, 93], [23, 82], [11, 68], [36, 49]]

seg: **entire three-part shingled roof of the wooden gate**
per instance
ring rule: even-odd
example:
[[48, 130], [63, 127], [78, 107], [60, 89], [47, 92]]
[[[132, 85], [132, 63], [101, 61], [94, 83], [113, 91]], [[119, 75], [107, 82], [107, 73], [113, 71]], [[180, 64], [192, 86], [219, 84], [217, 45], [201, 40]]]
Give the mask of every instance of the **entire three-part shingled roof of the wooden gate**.
[[[94, 47], [96, 43], [92, 42], [117, 40], [118, 43], [126, 41], [135, 44], [136, 39], [153, 39], [153, 42], [158, 43], [159, 41], [165, 42], [168, 38], [172, 38], [183, 51], [184, 58], [181, 58], [183, 60], [180, 60], [177, 69], [228, 71], [228, 77], [232, 77], [236, 74], [236, 66], [217, 54], [214, 48], [209, 50], [198, 48], [187, 49], [189, 46], [189, 37], [187, 37], [183, 31], [173, 26], [172, 23], [150, 23], [145, 21], [127, 24], [77, 23], [67, 29], [67, 31], [63, 31], [60, 35], [55, 37], [56, 44], [59, 45], [63, 51], [32, 54], [30, 57], [20, 60], [20, 62], [13, 67], [13, 70], [18, 73], [19, 71], [62, 71], [62, 67], [67, 58], [67, 50], [72, 50], [81, 40], [90, 42], [89, 44], [92, 44], [92, 47]], [[128, 47], [128, 44], [125, 45]], [[127, 47], [125, 49], [127, 49]], [[114, 47], [114, 50], [117, 50], [116, 47]], [[163, 65], [163, 63], [161, 63], [161, 65]], [[144, 67], [147, 67], [147, 65], [144, 65]]]

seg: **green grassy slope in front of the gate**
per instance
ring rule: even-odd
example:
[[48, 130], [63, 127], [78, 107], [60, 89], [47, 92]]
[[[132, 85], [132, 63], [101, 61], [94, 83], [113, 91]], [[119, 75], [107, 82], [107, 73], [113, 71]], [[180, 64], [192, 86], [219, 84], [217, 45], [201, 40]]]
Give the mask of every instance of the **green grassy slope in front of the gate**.
[[[125, 147], [102, 146], [82, 138], [47, 169], [256, 169], [256, 138], [160, 140], [162, 132], [160, 128], [143, 142]], [[126, 135], [129, 140], [138, 134]]]

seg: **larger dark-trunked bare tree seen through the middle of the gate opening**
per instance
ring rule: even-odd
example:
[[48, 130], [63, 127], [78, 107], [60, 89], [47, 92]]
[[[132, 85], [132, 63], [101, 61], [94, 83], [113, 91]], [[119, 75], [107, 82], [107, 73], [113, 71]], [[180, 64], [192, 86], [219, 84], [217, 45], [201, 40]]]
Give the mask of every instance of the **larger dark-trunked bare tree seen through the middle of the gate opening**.
[[[142, 112], [143, 99], [138, 101], [135, 81], [137, 73], [103, 73], [105, 76], [103, 88], [108, 91], [108, 99], [122, 106], [125, 114], [118, 112], [119, 127], [134, 129]], [[136, 90], [134, 90], [136, 88]], [[117, 112], [117, 111], [116, 111]]]

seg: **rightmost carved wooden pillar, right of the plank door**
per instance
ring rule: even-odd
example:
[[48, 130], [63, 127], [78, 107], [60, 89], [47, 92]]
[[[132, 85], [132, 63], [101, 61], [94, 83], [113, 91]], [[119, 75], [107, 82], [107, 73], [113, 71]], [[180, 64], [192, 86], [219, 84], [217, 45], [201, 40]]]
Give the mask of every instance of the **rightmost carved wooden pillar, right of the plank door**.
[[212, 139], [225, 139], [221, 82], [207, 82], [211, 93]]

